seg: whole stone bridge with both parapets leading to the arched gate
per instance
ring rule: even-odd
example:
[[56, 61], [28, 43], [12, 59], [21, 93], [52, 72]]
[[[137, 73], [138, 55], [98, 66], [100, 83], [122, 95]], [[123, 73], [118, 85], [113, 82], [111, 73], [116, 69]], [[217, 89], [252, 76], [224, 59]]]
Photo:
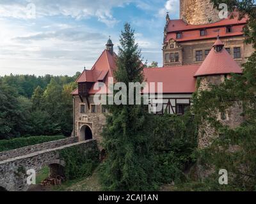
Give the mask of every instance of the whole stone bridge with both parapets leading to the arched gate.
[[60, 158], [60, 150], [77, 145], [86, 150], [93, 142], [95, 140], [79, 142], [77, 137], [72, 137], [0, 152], [0, 191], [27, 191], [28, 170], [38, 172], [49, 166], [51, 175], [61, 175], [65, 161]]

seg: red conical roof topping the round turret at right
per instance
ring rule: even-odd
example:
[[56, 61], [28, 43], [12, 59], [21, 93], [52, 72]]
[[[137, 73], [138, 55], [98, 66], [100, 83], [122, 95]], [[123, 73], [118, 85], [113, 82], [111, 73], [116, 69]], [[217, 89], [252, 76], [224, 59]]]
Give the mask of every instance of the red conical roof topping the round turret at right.
[[[223, 45], [220, 40], [217, 40], [215, 44]], [[225, 48], [220, 52], [216, 52], [212, 47], [211, 52], [209, 52], [200, 68], [196, 71], [195, 77], [228, 73], [242, 73], [242, 70]]]

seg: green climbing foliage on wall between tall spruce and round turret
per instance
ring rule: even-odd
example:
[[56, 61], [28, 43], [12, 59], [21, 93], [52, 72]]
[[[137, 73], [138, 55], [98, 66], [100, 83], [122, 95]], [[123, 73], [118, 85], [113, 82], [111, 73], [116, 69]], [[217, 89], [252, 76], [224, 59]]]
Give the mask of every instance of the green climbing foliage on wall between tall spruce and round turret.
[[[191, 113], [153, 117], [154, 159], [159, 184], [186, 181], [184, 172], [195, 163], [197, 126]], [[148, 133], [149, 134], [149, 133]]]

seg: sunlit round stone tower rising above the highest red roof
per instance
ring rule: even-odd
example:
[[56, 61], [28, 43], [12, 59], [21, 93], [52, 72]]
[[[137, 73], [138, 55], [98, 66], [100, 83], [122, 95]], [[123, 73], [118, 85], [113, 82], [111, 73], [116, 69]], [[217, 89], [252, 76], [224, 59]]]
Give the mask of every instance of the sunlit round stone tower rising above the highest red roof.
[[180, 0], [180, 19], [187, 24], [200, 25], [220, 20], [219, 11], [211, 0]]

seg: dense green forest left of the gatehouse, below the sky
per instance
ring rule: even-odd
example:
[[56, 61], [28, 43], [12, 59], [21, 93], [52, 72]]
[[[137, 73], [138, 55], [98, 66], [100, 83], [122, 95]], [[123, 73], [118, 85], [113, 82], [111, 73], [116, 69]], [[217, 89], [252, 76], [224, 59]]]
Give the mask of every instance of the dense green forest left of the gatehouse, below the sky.
[[73, 77], [9, 75], [0, 77], [0, 140], [72, 133]]

